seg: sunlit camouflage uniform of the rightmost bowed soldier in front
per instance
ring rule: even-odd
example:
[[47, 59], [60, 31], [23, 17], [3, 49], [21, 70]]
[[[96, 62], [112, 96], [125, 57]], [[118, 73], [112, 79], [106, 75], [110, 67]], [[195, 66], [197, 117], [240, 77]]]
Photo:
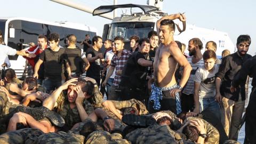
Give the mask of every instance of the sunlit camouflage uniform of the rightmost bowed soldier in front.
[[[195, 120], [195, 119], [201, 119], [198, 117], [188, 117], [187, 121]], [[220, 134], [218, 130], [212, 126], [210, 123], [206, 122], [204, 119], [201, 119], [204, 122], [204, 127], [206, 129], [206, 138], [204, 139], [204, 143], [210, 143], [210, 144], [218, 144], [220, 139]]]

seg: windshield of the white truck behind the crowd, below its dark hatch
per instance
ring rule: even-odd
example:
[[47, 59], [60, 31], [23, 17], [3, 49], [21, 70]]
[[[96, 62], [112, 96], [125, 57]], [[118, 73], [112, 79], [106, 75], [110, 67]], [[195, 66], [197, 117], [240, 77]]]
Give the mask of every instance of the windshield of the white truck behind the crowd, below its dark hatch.
[[124, 37], [124, 41], [130, 41], [132, 35], [138, 35], [140, 38], [146, 38], [149, 31], [154, 30], [154, 22], [118, 22], [112, 23], [108, 39], [114, 39], [116, 36]]

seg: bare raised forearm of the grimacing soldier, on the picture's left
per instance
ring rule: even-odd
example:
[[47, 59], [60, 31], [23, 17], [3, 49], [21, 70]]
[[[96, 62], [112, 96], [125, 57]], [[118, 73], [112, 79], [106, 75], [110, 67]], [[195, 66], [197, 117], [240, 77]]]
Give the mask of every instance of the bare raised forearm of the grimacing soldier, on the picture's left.
[[69, 81], [62, 84], [58, 89], [56, 89], [48, 98], [43, 101], [43, 106], [52, 110], [55, 106], [57, 106], [57, 99], [63, 90], [68, 89], [69, 85], [76, 85], [74, 82], [77, 82], [77, 78], [72, 78]]

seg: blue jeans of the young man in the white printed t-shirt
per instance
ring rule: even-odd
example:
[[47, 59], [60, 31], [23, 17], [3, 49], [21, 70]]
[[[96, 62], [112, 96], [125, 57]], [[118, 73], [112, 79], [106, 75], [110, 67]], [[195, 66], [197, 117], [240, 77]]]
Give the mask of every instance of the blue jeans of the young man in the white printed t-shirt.
[[212, 98], [199, 98], [199, 106], [200, 106], [200, 111], [208, 109], [210, 111], [213, 111], [213, 113], [219, 119], [221, 119], [220, 105], [215, 100], [215, 97], [212, 97]]

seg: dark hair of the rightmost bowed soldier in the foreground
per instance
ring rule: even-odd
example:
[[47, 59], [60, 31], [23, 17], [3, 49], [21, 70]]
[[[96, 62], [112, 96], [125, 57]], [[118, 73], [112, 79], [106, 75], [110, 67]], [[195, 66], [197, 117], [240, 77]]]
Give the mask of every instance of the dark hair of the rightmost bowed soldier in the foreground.
[[185, 126], [182, 133], [184, 133], [187, 139], [190, 139], [191, 141], [197, 141], [200, 134], [196, 127], [193, 125]]

